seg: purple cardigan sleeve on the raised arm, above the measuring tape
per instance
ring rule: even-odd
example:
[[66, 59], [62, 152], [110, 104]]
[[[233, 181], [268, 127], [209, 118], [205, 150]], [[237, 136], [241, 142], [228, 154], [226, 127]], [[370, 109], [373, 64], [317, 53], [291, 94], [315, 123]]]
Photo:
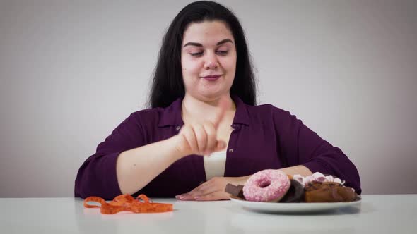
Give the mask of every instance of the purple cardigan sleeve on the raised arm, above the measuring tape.
[[116, 162], [120, 153], [145, 144], [139, 113], [131, 113], [115, 128], [104, 142], [98, 144], [95, 154], [79, 168], [74, 196], [98, 196], [113, 199], [122, 192], [117, 182]]

